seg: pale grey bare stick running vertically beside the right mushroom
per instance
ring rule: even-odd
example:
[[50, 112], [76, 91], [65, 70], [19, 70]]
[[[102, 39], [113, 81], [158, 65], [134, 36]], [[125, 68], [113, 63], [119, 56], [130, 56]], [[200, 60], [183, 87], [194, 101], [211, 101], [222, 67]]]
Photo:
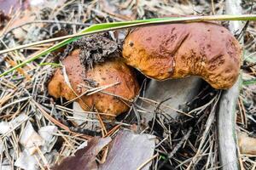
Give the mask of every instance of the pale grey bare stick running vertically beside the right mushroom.
[[[241, 0], [226, 0], [226, 14], [241, 14]], [[230, 31], [241, 31], [240, 21], [230, 21]], [[241, 76], [236, 84], [225, 90], [219, 102], [218, 110], [218, 145], [222, 169], [239, 169], [236, 142], [236, 103], [241, 87]]]

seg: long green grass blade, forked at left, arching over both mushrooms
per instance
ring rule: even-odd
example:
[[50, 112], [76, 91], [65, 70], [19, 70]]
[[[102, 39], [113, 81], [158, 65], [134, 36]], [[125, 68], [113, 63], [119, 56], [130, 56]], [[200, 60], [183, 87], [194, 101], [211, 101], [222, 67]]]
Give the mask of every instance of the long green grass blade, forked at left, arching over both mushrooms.
[[167, 23], [179, 23], [179, 22], [198, 22], [198, 21], [210, 21], [210, 20], [256, 20], [256, 14], [241, 14], [241, 15], [211, 15], [211, 16], [192, 16], [192, 17], [171, 17], [171, 18], [159, 18], [159, 19], [148, 19], [148, 20], [133, 20], [133, 21], [125, 21], [125, 22], [113, 22], [113, 23], [102, 23], [102, 24], [96, 24], [94, 26], [90, 26], [80, 33], [64, 36], [64, 37], [56, 37], [49, 40], [44, 40], [40, 42], [33, 42], [26, 45], [21, 45], [15, 48], [9, 48], [4, 49], [0, 51], [0, 54], [8, 53], [10, 51], [18, 50], [21, 48], [27, 48], [35, 45], [39, 45], [46, 42], [55, 42], [55, 41], [61, 41], [51, 48], [45, 49], [40, 54], [37, 54], [35, 56], [32, 56], [30, 59], [26, 59], [19, 65], [15, 65], [8, 71], [3, 72], [0, 77], [3, 77], [4, 75], [8, 74], [9, 72], [15, 71], [17, 68], [20, 68], [23, 65], [26, 65], [29, 62], [32, 62], [35, 59], [38, 59], [39, 57], [49, 54], [52, 51], [55, 51], [55, 49], [61, 48], [62, 46], [67, 45], [70, 42], [73, 42], [77, 40], [79, 37], [90, 35], [102, 31], [113, 31], [113, 30], [119, 30], [119, 29], [125, 29], [125, 28], [131, 28], [131, 27], [137, 27], [137, 26], [148, 26], [148, 25], [159, 25], [159, 24], [167, 24]]

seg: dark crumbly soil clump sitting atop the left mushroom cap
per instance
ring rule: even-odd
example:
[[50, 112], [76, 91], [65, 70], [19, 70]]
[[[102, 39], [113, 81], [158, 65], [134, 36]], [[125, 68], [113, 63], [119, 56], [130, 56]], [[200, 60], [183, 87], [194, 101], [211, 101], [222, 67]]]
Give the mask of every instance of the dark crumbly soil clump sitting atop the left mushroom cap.
[[114, 42], [107, 33], [82, 37], [68, 45], [61, 57], [64, 59], [73, 49], [80, 49], [80, 61], [85, 69], [93, 68], [97, 63], [103, 63], [106, 59], [116, 57], [119, 45]]

